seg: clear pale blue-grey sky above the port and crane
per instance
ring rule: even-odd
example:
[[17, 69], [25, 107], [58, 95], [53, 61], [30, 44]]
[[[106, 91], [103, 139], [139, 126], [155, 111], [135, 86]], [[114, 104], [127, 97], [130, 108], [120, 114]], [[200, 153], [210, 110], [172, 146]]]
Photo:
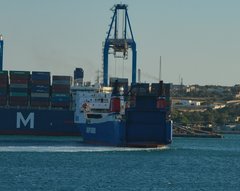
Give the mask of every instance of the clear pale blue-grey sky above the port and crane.
[[[82, 67], [94, 81], [110, 8], [121, 2], [128, 4], [142, 81], [156, 82], [161, 56], [166, 82], [240, 84], [239, 0], [0, 0], [4, 69], [72, 75]], [[110, 76], [130, 76], [131, 54], [109, 59]]]

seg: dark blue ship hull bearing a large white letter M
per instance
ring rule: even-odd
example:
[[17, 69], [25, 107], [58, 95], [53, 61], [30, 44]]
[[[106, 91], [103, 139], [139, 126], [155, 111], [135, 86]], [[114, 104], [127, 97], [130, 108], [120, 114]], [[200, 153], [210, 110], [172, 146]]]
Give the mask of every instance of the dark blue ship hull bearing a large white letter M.
[[79, 136], [74, 111], [0, 108], [1, 135]]

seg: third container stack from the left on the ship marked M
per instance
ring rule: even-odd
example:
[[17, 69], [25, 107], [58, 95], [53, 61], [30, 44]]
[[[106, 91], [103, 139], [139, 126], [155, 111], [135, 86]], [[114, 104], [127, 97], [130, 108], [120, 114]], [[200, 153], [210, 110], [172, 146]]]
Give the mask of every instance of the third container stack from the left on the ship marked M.
[[50, 72], [32, 72], [31, 106], [49, 107]]

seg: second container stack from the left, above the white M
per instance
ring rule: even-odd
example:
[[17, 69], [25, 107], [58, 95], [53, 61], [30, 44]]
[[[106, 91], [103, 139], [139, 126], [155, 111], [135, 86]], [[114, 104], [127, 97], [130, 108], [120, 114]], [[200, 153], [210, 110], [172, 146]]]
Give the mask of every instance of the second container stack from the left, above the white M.
[[28, 71], [10, 71], [10, 106], [28, 106], [29, 79]]

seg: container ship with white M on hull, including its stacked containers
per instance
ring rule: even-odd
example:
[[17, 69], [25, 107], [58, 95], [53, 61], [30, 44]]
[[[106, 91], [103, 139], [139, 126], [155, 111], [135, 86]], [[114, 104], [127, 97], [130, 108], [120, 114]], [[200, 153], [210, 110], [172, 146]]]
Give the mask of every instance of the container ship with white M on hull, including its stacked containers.
[[0, 134], [79, 136], [71, 77], [0, 71]]

